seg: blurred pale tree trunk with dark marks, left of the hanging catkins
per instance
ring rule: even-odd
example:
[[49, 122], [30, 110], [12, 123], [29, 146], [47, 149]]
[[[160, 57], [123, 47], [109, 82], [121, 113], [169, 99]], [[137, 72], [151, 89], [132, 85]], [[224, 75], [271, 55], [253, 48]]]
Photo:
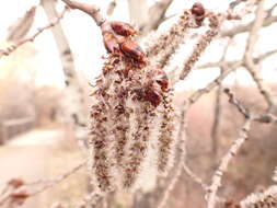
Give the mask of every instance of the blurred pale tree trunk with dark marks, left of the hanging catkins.
[[[42, 0], [41, 1], [45, 13], [50, 21], [57, 18], [55, 1]], [[84, 137], [84, 129], [86, 123], [85, 108], [83, 106], [83, 90], [81, 88], [78, 74], [74, 68], [74, 59], [70, 49], [69, 43], [61, 27], [58, 23], [51, 27], [53, 35], [59, 51], [62, 70], [65, 73], [66, 96], [62, 100], [62, 108], [65, 113], [65, 122], [73, 124], [77, 137]]]

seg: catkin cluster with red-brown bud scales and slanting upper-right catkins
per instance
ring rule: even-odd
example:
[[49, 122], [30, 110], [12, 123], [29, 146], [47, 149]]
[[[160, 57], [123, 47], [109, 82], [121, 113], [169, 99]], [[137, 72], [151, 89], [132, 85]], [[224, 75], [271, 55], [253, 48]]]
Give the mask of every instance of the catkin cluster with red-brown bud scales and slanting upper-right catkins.
[[[112, 31], [103, 33], [108, 57], [93, 93], [89, 139], [90, 173], [101, 192], [141, 186], [149, 171], [166, 175], [174, 158], [176, 116], [163, 69], [188, 28], [201, 26], [205, 16], [203, 5], [195, 3], [146, 53], [126, 23], [113, 22]], [[217, 31], [217, 25], [210, 27]], [[208, 32], [188, 58], [189, 68], [216, 35]]]

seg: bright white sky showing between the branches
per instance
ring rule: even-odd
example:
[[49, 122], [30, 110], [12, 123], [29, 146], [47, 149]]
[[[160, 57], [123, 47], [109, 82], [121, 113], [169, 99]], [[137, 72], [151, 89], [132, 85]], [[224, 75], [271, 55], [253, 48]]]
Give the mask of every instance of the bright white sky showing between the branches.
[[[85, 0], [83, 0], [85, 1]], [[89, 1], [89, 0], [88, 0]], [[101, 7], [102, 11], [106, 10], [109, 0], [90, 0], [89, 2], [95, 3]], [[101, 2], [101, 4], [100, 4]], [[149, 0], [149, 4], [154, 1]], [[185, 8], [191, 8], [194, 0], [174, 0], [170, 7], [166, 15], [180, 13]], [[203, 4], [213, 11], [224, 11], [228, 7], [229, 0], [201, 0]], [[270, 4], [270, 0], [267, 1]], [[3, 43], [7, 35], [8, 27], [20, 16], [24, 15], [32, 5], [38, 4], [38, 0], [19, 1], [9, 0], [0, 7], [0, 43]], [[62, 10], [62, 3], [58, 4], [58, 9]], [[118, 5], [115, 9], [114, 14], [111, 16], [112, 20], [120, 20], [129, 22], [128, 9], [126, 0], [118, 0]], [[267, 5], [266, 5], [267, 7]], [[251, 16], [250, 16], [251, 18]], [[160, 27], [160, 32], [166, 30], [174, 21], [174, 18], [165, 22]], [[38, 8], [36, 11], [35, 23], [30, 31], [30, 35], [34, 34], [38, 27], [46, 25], [47, 19], [42, 10]], [[73, 56], [76, 59], [77, 70], [81, 71], [88, 80], [92, 80], [93, 77], [97, 76], [101, 71], [102, 59], [101, 57], [105, 55], [105, 49], [102, 43], [101, 32], [99, 27], [94, 24], [92, 19], [80, 11], [71, 11], [66, 14], [61, 21], [64, 30], [68, 36]], [[226, 27], [232, 26], [238, 23], [230, 23], [224, 25]], [[275, 33], [274, 33], [275, 31]], [[270, 28], [266, 28], [261, 33], [261, 38], [257, 43], [257, 49], [255, 54], [265, 53], [269, 49], [274, 49], [277, 46], [276, 38], [277, 25], [275, 24]], [[243, 50], [242, 45], [245, 44], [246, 35], [240, 35], [235, 37], [232, 42], [232, 46], [228, 50], [228, 59], [233, 60], [242, 56]], [[205, 61], [217, 61], [220, 58], [220, 48], [226, 42], [215, 42], [201, 57], [199, 65]], [[1, 44], [0, 44], [1, 45]], [[38, 84], [55, 84], [58, 86], [64, 85], [64, 74], [61, 71], [61, 65], [56, 49], [56, 45], [51, 35], [50, 30], [41, 34], [34, 42], [34, 46], [37, 49], [36, 61], [39, 66], [37, 74]], [[173, 59], [174, 63], [180, 63], [184, 61], [184, 57], [193, 49], [194, 42], [186, 43], [182, 49], [180, 49], [178, 55]], [[277, 66], [276, 56], [273, 56], [268, 60], [264, 61], [262, 68], [266, 69], [263, 71], [262, 76], [268, 81], [277, 80]], [[0, 60], [1, 61], [1, 60]], [[2, 70], [2, 69], [0, 69]], [[176, 89], [198, 89], [205, 86], [208, 82], [213, 80], [219, 74], [219, 69], [210, 69], [201, 72], [194, 71], [185, 81], [180, 82]], [[251, 84], [253, 81], [250, 76], [243, 71], [238, 70], [236, 76], [239, 77], [238, 82], [242, 84]], [[234, 74], [227, 79], [227, 83], [234, 81]]]

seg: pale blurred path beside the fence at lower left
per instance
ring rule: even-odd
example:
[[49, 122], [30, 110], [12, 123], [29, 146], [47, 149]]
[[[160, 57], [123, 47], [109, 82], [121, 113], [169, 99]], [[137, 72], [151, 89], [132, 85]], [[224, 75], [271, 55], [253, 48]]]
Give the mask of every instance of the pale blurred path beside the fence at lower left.
[[[62, 138], [62, 131], [32, 130], [0, 146], [0, 190], [7, 181], [21, 177], [26, 182], [47, 178], [50, 148]], [[37, 199], [30, 199], [22, 207], [36, 208]]]

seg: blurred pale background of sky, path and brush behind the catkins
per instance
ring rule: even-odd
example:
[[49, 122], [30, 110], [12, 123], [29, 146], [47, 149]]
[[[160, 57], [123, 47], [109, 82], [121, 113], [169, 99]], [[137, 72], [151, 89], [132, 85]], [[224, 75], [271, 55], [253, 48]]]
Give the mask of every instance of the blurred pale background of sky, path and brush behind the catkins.
[[[95, 3], [109, 20], [130, 22], [142, 37], [161, 34], [177, 21], [194, 0], [88, 0]], [[223, 12], [229, 1], [200, 0], [205, 8]], [[38, 28], [50, 23], [33, 42], [16, 47], [0, 57], [0, 189], [12, 177], [26, 182], [55, 178], [86, 158], [86, 119], [94, 78], [101, 73], [106, 55], [102, 35], [93, 20], [80, 11], [64, 12], [65, 4], [56, 0], [10, 0], [0, 7], [0, 49], [33, 37]], [[242, 5], [243, 7], [243, 5]], [[157, 9], [159, 8], [159, 9]], [[152, 10], [151, 10], [152, 9]], [[155, 9], [155, 10], [154, 10]], [[255, 44], [253, 58], [259, 78], [277, 95], [277, 5], [265, 1], [264, 27]], [[254, 12], [239, 21], [222, 25], [220, 36], [197, 62], [196, 69], [175, 84], [175, 103], [204, 89], [222, 72], [234, 68], [219, 86], [204, 94], [188, 111], [187, 163], [206, 183], [221, 155], [238, 137], [243, 117], [231, 106], [222, 88], [231, 88], [243, 105], [256, 113], [266, 109], [266, 102], [243, 65], [249, 32]], [[203, 28], [205, 31], [205, 28]], [[189, 55], [197, 37], [191, 34], [168, 67], [177, 68]], [[222, 67], [222, 60], [224, 61]], [[220, 63], [221, 61], [221, 63]], [[232, 67], [230, 67], [232, 66]], [[276, 113], [276, 108], [274, 111]], [[220, 195], [240, 200], [246, 194], [272, 183], [277, 165], [277, 126], [254, 124], [251, 139], [233, 160]], [[90, 190], [83, 167], [61, 184], [27, 200], [25, 208], [46, 208], [55, 201], [76, 207]], [[113, 196], [111, 207], [155, 207], [159, 188], [136, 195]], [[201, 207], [203, 189], [185, 173], [171, 195], [168, 207]], [[111, 199], [112, 200], [112, 199]]]

